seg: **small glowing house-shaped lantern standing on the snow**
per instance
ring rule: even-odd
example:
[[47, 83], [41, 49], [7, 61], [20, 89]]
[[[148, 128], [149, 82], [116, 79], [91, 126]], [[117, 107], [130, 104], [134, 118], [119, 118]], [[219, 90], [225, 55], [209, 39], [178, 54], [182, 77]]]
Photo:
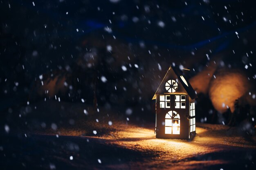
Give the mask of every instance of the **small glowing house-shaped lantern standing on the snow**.
[[153, 97], [157, 138], [192, 139], [195, 136], [195, 98], [197, 95], [183, 72], [170, 66]]

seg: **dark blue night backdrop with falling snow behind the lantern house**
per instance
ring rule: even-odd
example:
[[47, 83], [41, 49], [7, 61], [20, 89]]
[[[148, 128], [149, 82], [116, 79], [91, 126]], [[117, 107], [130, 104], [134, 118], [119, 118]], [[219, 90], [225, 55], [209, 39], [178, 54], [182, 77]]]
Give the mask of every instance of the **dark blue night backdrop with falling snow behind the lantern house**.
[[[4, 117], [15, 110], [27, 112], [27, 102], [60, 97], [69, 103], [84, 99], [95, 110], [117, 108], [121, 114], [139, 108], [133, 115], [154, 121], [151, 98], [168, 67], [190, 68], [186, 73], [190, 78], [207, 66], [207, 55], [220, 56], [229, 68], [243, 69], [255, 84], [253, 1], [34, 0], [34, 4], [0, 1]], [[65, 89], [59, 90], [56, 83], [51, 95], [45, 94], [40, 75], [44, 85], [65, 77]], [[101, 81], [103, 76], [107, 82]], [[207, 95], [198, 95], [200, 120], [214, 108]]]

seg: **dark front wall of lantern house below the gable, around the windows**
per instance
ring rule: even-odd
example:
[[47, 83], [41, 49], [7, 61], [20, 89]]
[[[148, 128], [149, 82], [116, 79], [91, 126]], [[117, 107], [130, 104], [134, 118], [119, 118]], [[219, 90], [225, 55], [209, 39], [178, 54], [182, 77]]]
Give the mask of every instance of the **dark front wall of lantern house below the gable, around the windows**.
[[[164, 95], [164, 94], [163, 94]], [[171, 107], [170, 108], [160, 108], [159, 107], [159, 96], [156, 95], [156, 137], [157, 138], [170, 138], [170, 139], [189, 139], [189, 104], [190, 97], [187, 94], [168, 94], [171, 95]], [[186, 108], [175, 108], [175, 95], [185, 95], [186, 96]], [[168, 111], [176, 111], [180, 115], [180, 135], [165, 134], [165, 115]], [[163, 123], [164, 122], [164, 123]]]

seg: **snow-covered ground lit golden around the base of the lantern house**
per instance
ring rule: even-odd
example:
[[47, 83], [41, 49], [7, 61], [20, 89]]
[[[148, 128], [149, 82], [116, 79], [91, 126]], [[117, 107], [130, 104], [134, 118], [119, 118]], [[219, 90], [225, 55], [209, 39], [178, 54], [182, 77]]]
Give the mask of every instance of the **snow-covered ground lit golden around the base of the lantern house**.
[[[112, 125], [115, 126], [115, 125]], [[253, 169], [256, 138], [247, 140], [236, 128], [197, 124], [193, 141], [156, 139], [153, 124], [145, 128], [116, 124], [114, 131], [94, 136], [2, 136], [1, 166], [42, 169]]]

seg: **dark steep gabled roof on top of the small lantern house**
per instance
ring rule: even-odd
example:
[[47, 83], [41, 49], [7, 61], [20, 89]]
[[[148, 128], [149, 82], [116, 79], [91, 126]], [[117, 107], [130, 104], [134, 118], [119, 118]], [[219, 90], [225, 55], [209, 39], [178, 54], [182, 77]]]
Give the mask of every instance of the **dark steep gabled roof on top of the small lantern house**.
[[184, 77], [184, 73], [179, 69], [179, 68], [173, 68], [173, 67], [169, 67], [168, 71], [166, 72], [161, 84], [159, 85], [159, 87], [157, 88], [157, 91], [155, 92], [155, 95], [153, 96], [153, 99], [156, 99], [156, 94], [161, 93], [162, 94], [162, 89], [159, 89], [162, 86], [163, 82], [167, 82], [170, 79], [170, 74], [171, 73], [175, 73], [175, 75], [177, 76], [177, 79], [179, 81], [180, 84], [182, 84], [183, 88], [185, 89], [185, 91], [188, 93], [189, 97], [191, 99], [195, 99], [197, 98], [196, 92], [193, 89], [193, 87], [191, 86], [191, 84], [189, 83], [189, 81]]

